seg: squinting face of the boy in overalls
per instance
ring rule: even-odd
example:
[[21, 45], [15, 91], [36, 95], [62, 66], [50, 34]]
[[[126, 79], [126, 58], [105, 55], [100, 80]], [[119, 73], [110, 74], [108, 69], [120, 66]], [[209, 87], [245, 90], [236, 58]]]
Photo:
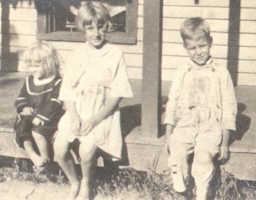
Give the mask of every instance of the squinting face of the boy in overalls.
[[200, 66], [205, 65], [205, 63], [210, 58], [210, 48], [212, 46], [212, 39], [207, 40], [207, 38], [196, 39], [186, 39], [184, 47], [188, 51], [191, 60]]

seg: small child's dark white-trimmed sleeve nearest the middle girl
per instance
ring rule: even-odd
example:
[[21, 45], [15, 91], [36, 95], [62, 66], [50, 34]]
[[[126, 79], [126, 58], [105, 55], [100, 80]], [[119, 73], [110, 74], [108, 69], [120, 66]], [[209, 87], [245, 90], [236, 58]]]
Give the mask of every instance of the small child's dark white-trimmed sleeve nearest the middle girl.
[[43, 108], [38, 111], [36, 117], [43, 121], [50, 121], [55, 118], [62, 110], [63, 103], [58, 100], [59, 92], [61, 87], [61, 79], [55, 82], [52, 87], [51, 94], [49, 95], [48, 102], [44, 104]]

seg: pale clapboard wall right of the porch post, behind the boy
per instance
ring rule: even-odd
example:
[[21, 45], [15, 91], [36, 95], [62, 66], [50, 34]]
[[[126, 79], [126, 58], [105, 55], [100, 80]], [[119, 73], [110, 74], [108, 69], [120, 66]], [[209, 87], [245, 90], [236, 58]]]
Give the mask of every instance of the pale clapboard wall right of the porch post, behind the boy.
[[180, 25], [188, 17], [203, 17], [211, 27], [213, 58], [225, 65], [230, 58], [229, 70], [238, 85], [256, 85], [255, 13], [256, 1], [251, 0], [164, 0], [162, 79], [171, 80], [174, 69], [189, 61]]

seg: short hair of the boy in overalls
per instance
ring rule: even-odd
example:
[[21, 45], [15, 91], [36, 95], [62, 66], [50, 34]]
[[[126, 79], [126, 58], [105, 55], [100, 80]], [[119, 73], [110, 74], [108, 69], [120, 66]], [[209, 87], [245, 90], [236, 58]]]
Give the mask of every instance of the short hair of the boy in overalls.
[[184, 44], [186, 44], [186, 39], [199, 40], [206, 38], [208, 42], [212, 40], [210, 36], [210, 26], [207, 21], [201, 17], [192, 17], [185, 20], [180, 27], [180, 35], [182, 36]]

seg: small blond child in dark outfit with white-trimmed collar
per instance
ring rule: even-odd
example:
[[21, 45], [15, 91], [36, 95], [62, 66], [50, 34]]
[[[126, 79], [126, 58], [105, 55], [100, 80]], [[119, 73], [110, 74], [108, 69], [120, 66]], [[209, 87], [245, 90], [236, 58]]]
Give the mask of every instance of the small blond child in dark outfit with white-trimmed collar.
[[43, 171], [50, 160], [52, 136], [63, 115], [63, 104], [58, 100], [59, 61], [54, 47], [45, 41], [30, 46], [24, 57], [32, 74], [26, 78], [15, 101], [18, 112], [15, 143], [26, 150], [36, 170]]

